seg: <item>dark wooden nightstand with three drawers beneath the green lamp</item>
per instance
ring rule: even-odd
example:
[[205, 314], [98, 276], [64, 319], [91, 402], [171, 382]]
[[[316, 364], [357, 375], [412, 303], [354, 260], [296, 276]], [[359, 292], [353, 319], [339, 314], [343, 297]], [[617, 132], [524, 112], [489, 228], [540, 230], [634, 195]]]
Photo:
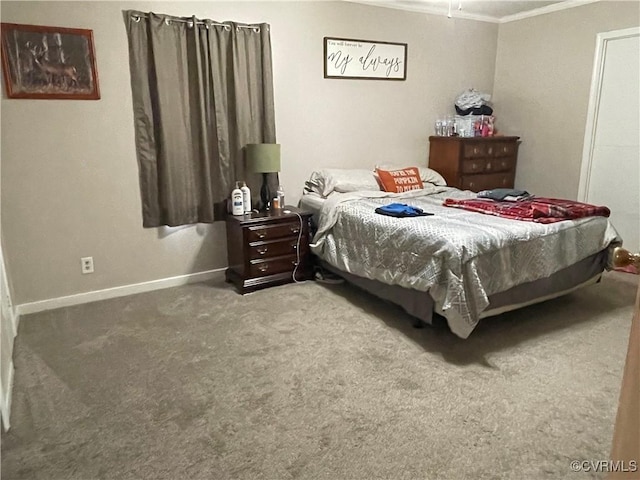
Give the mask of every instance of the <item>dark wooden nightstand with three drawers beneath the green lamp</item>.
[[[288, 212], [288, 213], [285, 213]], [[309, 280], [313, 265], [309, 250], [311, 213], [295, 207], [269, 212], [228, 215], [227, 282], [240, 293]]]

